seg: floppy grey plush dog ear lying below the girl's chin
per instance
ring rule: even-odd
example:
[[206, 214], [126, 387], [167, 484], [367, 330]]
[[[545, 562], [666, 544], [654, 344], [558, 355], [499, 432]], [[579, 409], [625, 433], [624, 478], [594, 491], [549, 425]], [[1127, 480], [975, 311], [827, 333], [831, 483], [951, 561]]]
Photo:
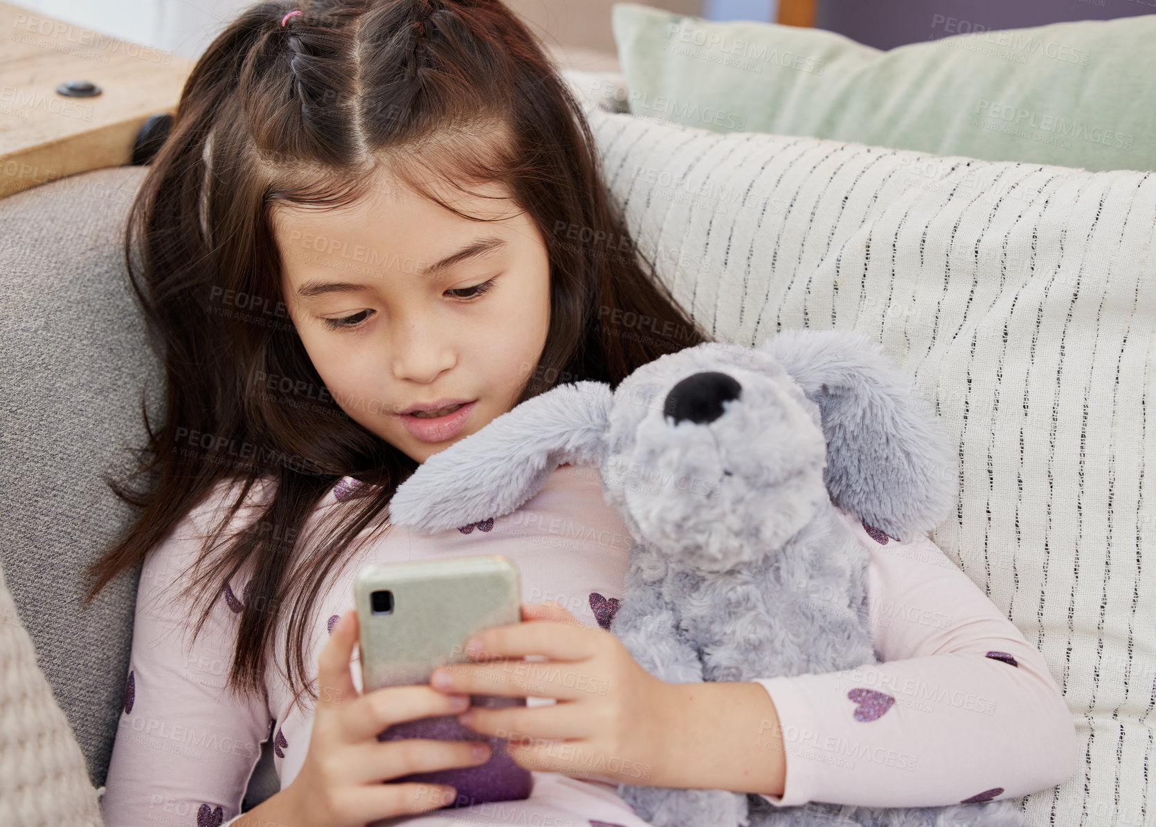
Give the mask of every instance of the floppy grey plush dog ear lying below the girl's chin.
[[560, 385], [496, 417], [418, 465], [390, 500], [390, 520], [435, 534], [502, 516], [538, 493], [564, 462], [599, 465], [613, 392]]

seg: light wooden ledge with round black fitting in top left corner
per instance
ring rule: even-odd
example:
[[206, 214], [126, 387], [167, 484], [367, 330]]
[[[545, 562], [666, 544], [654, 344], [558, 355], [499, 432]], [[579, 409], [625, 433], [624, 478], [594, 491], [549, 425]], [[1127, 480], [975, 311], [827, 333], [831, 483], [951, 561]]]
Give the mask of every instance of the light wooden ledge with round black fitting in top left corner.
[[[149, 117], [175, 113], [193, 62], [0, 2], [0, 198], [132, 161]], [[91, 81], [95, 97], [57, 84]]]

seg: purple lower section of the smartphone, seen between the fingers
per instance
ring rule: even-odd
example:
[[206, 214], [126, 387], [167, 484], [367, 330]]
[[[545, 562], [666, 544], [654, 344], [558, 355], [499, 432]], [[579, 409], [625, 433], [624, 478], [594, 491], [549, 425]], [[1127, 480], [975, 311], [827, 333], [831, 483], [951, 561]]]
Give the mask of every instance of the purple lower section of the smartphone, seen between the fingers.
[[[526, 706], [525, 698], [504, 695], [470, 695], [470, 708], [499, 709], [502, 707]], [[529, 798], [534, 789], [533, 774], [510, 758], [505, 751], [505, 738], [488, 736], [458, 723], [457, 715], [436, 715], [415, 721], [395, 723], [377, 736], [378, 740], [403, 738], [436, 738], [438, 740], [484, 740], [490, 744], [490, 760], [473, 767], [453, 767], [429, 773], [410, 773], [391, 783], [425, 782], [450, 784], [458, 797], [438, 810], [468, 807], [484, 802], [510, 802]]]

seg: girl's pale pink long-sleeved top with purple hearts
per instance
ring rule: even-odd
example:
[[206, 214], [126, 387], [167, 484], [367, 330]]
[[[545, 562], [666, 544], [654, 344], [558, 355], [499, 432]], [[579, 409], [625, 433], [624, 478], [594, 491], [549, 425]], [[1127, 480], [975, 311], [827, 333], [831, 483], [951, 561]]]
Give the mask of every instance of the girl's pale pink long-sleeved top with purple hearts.
[[[323, 512], [350, 507], [357, 486], [349, 477], [338, 483], [303, 534]], [[262, 480], [251, 497], [269, 491]], [[239, 699], [224, 690], [247, 573], [221, 584], [191, 648], [191, 612], [173, 599], [227, 493], [235, 496], [218, 484], [143, 564], [124, 713], [102, 799], [110, 827], [227, 825], [240, 814], [264, 742], [273, 739], [282, 789], [305, 758], [312, 714], [292, 703], [284, 680], [284, 618], [264, 696]], [[251, 500], [232, 526], [253, 519], [252, 508]], [[786, 757], [783, 795], [763, 798], [776, 806], [935, 806], [1017, 798], [1072, 777], [1081, 763], [1075, 725], [1039, 651], [929, 537], [899, 543], [844, 517], [870, 550], [870, 627], [883, 663], [757, 679], [775, 703]], [[353, 606], [353, 581], [364, 565], [505, 554], [519, 568], [523, 602], [556, 601], [579, 620], [607, 628], [629, 552], [628, 530], [602, 499], [593, 467], [558, 467], [521, 508], [492, 520], [435, 535], [392, 526], [358, 547], [319, 596], [304, 657], [307, 677], [316, 679], [336, 616]], [[351, 675], [361, 691], [361, 670], [353, 664]], [[533, 775], [533, 792], [521, 802], [375, 824], [457, 827], [474, 814], [492, 824], [646, 825], [614, 783]]]

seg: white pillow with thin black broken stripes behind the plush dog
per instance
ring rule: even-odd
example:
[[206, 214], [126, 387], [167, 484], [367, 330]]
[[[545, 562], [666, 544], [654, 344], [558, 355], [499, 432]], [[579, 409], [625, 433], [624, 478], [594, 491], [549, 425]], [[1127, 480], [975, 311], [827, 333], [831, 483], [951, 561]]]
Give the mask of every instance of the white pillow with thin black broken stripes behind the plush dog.
[[596, 97], [613, 200], [697, 323], [744, 345], [860, 330], [935, 401], [961, 497], [934, 538], [1045, 655], [1084, 739], [1032, 821], [1156, 824], [1156, 177], [720, 134]]

